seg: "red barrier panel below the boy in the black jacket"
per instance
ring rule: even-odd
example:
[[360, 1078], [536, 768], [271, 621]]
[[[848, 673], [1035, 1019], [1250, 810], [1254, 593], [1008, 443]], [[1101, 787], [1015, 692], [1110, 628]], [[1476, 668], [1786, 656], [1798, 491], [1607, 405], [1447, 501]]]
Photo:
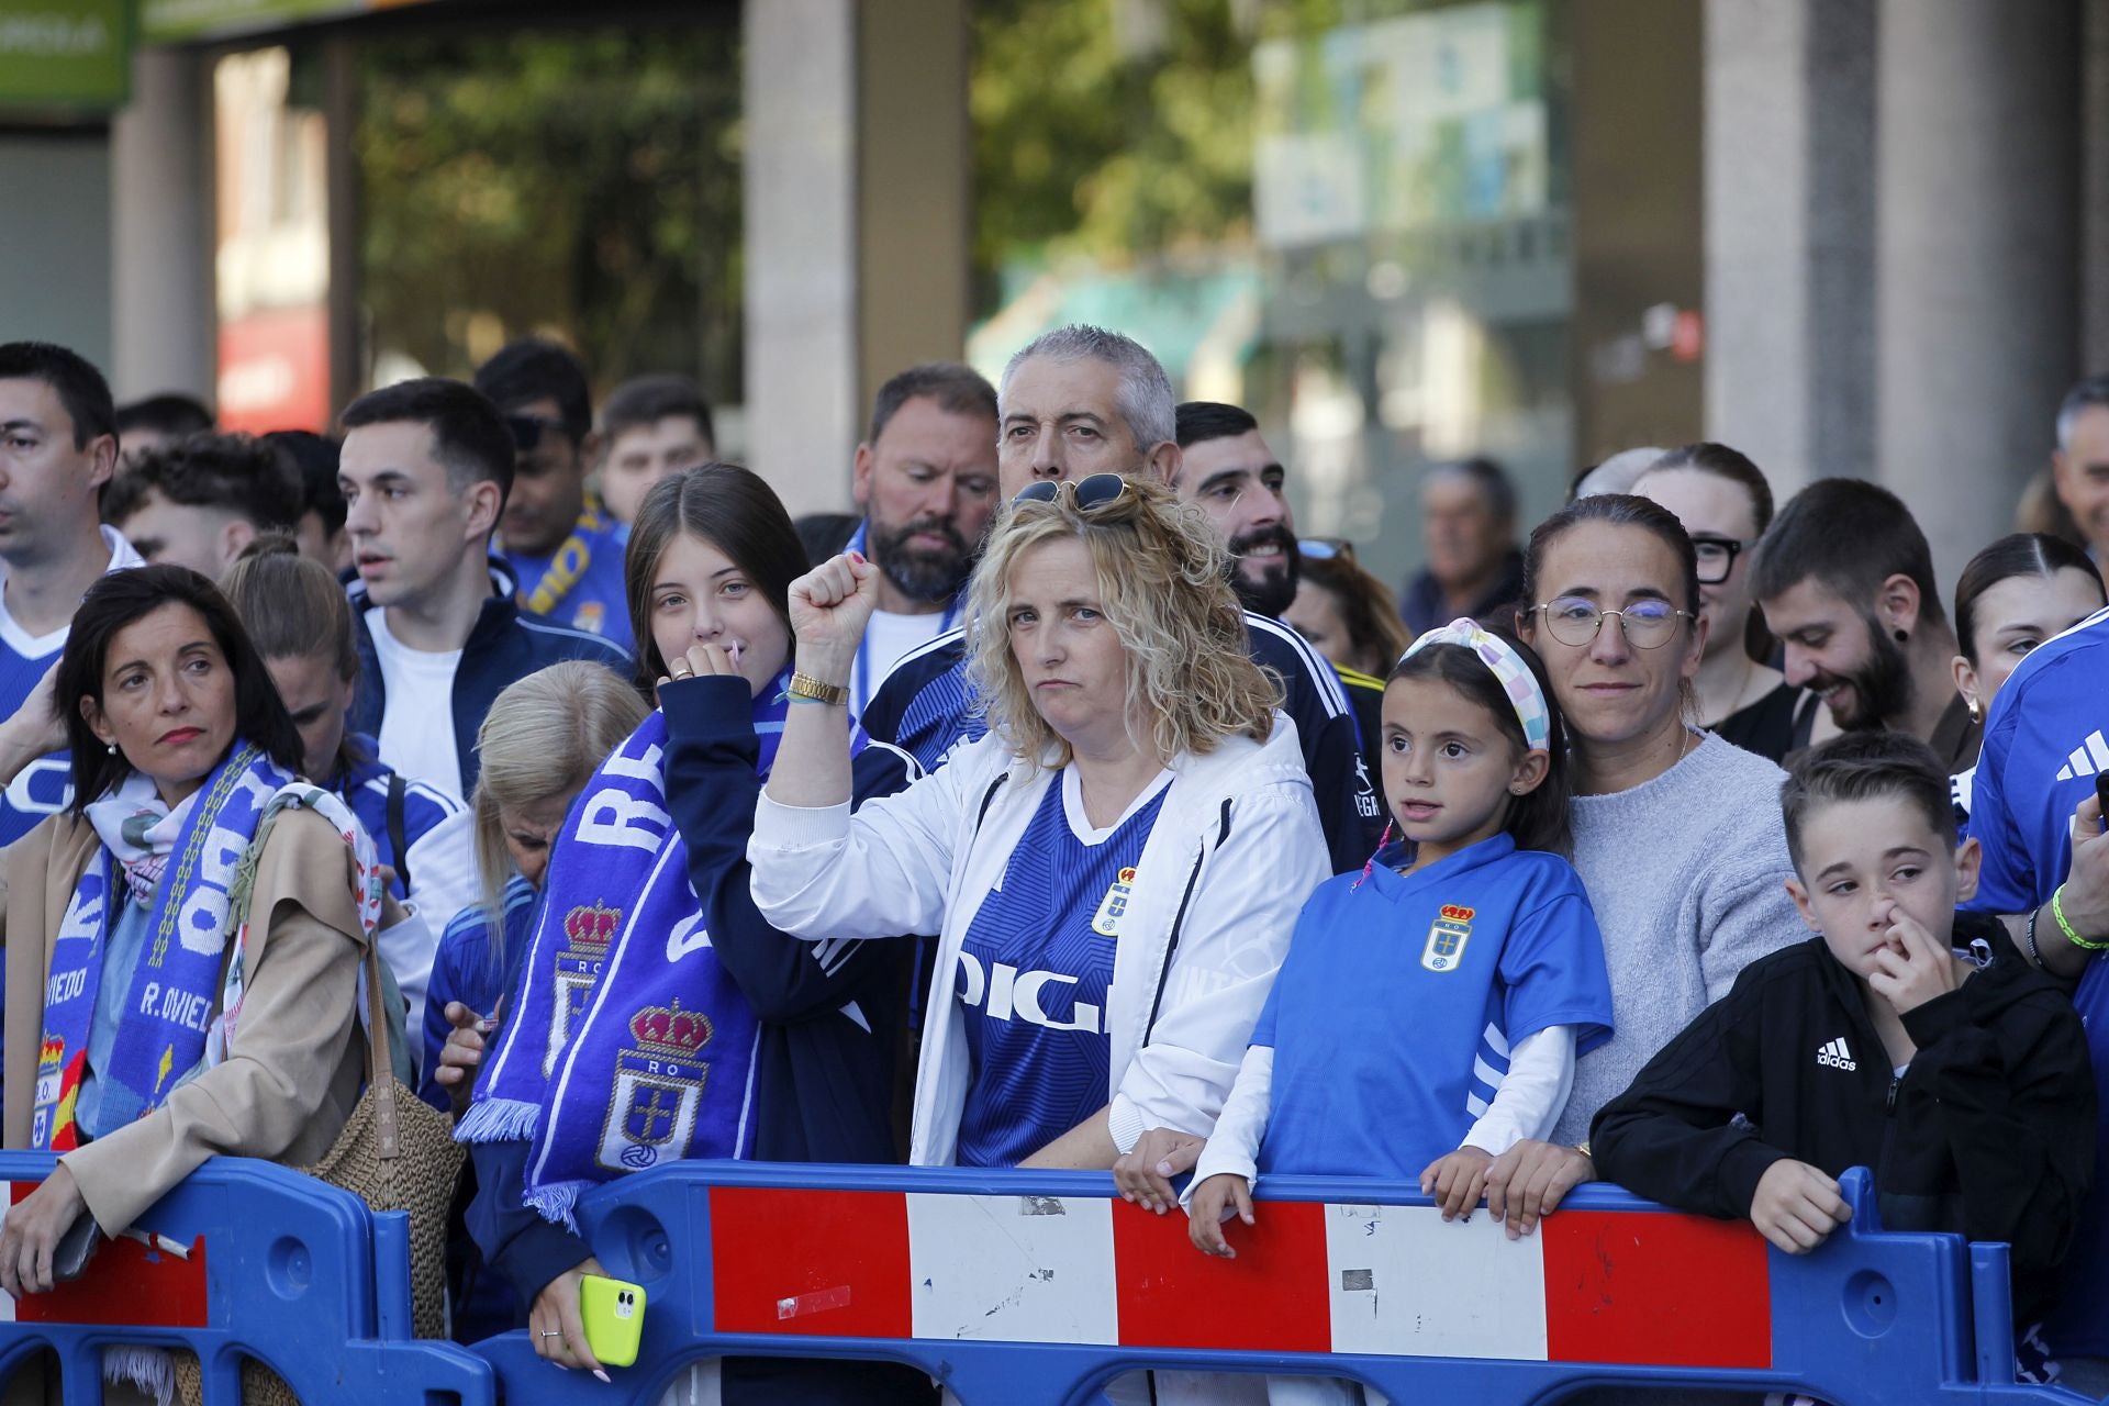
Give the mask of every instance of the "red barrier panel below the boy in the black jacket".
[[1561, 1210], [1537, 1233], [1552, 1362], [1772, 1366], [1772, 1275], [1746, 1221]]

